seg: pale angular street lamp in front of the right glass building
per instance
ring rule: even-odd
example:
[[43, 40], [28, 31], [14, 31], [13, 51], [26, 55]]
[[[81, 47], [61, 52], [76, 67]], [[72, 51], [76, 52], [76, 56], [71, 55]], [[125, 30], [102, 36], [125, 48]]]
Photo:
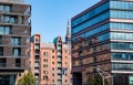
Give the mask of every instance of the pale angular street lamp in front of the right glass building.
[[104, 72], [104, 71], [102, 71], [100, 68], [96, 68], [96, 71], [100, 74], [100, 76], [102, 77], [103, 85], [105, 85], [105, 78], [109, 78], [109, 77], [112, 78], [112, 85], [113, 85], [113, 75], [111, 75], [108, 72]]

